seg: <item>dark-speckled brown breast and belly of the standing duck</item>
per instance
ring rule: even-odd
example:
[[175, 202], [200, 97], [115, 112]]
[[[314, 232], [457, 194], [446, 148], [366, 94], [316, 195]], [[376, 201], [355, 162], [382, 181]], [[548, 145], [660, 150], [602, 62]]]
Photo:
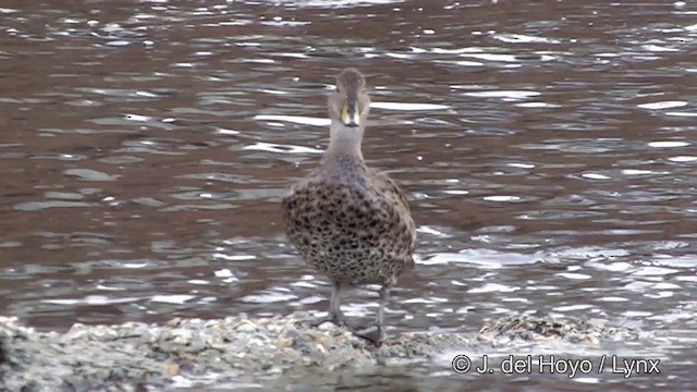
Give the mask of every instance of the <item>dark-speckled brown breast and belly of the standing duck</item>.
[[320, 170], [292, 189], [283, 210], [302, 258], [334, 282], [393, 284], [413, 266], [414, 221], [404, 195], [382, 173]]

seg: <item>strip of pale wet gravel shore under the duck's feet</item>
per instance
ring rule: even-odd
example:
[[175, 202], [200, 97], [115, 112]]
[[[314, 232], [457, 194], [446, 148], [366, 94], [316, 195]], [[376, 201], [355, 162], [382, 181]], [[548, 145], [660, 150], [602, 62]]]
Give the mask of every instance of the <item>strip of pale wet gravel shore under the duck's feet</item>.
[[376, 347], [331, 324], [310, 328], [304, 322], [309, 319], [303, 313], [274, 318], [176, 318], [164, 324], [75, 324], [59, 333], [37, 332], [16, 318], [0, 317], [0, 390], [164, 390], [201, 377], [234, 380], [403, 365], [429, 360], [444, 351], [519, 340], [597, 344], [643, 334], [600, 321], [524, 316], [494, 320], [476, 334], [393, 333]]

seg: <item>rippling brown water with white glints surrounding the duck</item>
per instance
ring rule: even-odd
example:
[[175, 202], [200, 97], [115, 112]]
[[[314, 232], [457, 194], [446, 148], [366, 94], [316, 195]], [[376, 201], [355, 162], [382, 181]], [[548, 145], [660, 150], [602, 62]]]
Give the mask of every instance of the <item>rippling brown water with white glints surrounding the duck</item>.
[[[695, 388], [696, 45], [680, 1], [3, 1], [0, 314], [65, 329], [326, 310], [279, 200], [353, 65], [374, 100], [365, 156], [419, 232], [390, 328], [637, 324], [665, 335], [645, 347], [661, 376], [568, 389]], [[372, 317], [358, 294], [345, 313]], [[432, 376], [415, 390], [511, 382], [406, 371]]]

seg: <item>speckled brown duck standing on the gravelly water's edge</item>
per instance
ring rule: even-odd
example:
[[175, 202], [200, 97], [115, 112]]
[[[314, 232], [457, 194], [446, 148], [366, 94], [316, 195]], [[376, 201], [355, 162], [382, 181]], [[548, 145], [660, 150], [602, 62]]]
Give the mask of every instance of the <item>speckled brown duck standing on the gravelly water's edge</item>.
[[314, 326], [347, 327], [340, 308], [342, 292], [381, 285], [375, 326], [353, 330], [379, 345], [386, 339], [389, 289], [414, 267], [416, 230], [404, 193], [363, 159], [370, 98], [360, 72], [343, 70], [327, 106], [329, 147], [319, 166], [283, 198], [285, 232], [303, 260], [332, 282], [329, 316]]

